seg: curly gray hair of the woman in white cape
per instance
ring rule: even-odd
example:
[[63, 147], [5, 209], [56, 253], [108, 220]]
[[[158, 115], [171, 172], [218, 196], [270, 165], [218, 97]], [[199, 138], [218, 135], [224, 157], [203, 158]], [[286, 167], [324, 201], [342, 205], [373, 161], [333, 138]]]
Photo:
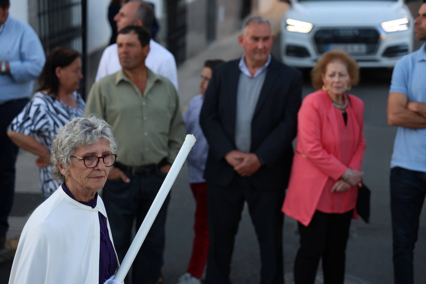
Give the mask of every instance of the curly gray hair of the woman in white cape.
[[69, 120], [63, 128], [58, 130], [51, 148], [50, 162], [53, 179], [60, 182], [65, 180], [58, 164], [69, 168], [71, 155], [74, 155], [76, 148], [96, 144], [102, 138], [109, 142], [111, 152], [115, 153], [117, 143], [112, 136], [111, 126], [105, 120], [94, 115]]

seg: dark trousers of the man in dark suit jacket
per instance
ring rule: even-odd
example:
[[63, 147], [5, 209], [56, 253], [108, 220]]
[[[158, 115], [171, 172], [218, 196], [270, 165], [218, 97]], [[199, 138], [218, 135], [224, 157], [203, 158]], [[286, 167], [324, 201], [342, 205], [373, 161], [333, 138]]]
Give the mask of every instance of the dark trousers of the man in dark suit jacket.
[[284, 190], [254, 189], [247, 178], [236, 177], [223, 188], [207, 184], [210, 247], [205, 283], [230, 284], [230, 262], [235, 235], [247, 201], [259, 241], [261, 284], [283, 284], [281, 212]]

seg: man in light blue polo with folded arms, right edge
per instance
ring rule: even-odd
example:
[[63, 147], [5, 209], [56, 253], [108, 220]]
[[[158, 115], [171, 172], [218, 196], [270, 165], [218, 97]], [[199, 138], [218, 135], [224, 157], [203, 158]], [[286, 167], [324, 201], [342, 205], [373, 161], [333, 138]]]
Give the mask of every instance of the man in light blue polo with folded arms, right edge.
[[[414, 20], [417, 40], [426, 40], [426, 0]], [[394, 283], [413, 284], [413, 251], [426, 193], [426, 43], [395, 65], [388, 123], [398, 126], [391, 159]]]

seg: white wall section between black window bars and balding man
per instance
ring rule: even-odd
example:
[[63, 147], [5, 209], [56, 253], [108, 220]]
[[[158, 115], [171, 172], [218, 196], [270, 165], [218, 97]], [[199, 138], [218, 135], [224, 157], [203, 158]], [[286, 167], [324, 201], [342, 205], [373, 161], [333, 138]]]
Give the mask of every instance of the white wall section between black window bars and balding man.
[[106, 46], [111, 37], [108, 22], [109, 0], [87, 1], [87, 53]]

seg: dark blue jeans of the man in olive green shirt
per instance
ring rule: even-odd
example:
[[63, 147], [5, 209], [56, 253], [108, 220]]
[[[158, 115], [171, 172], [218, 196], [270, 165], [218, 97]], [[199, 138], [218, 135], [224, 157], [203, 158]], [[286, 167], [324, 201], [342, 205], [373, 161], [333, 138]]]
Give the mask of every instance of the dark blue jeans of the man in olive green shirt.
[[[130, 183], [121, 179], [108, 180], [104, 186], [102, 199], [107, 209], [112, 239], [118, 260], [123, 261], [131, 244], [133, 222], [136, 231], [144, 221], [151, 204], [157, 195], [166, 174], [160, 171], [147, 177], [130, 176]], [[133, 284], [155, 284], [163, 265], [165, 224], [170, 194], [158, 212], [157, 218], [148, 232], [138, 255], [133, 262]], [[129, 276], [125, 283], [129, 282]]]

